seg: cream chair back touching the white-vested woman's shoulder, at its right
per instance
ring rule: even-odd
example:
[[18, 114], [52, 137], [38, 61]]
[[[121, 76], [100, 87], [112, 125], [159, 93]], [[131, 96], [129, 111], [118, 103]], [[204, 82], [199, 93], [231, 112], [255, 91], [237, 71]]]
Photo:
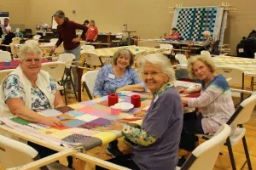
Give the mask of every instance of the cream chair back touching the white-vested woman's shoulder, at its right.
[[65, 66], [65, 63], [62, 61], [48, 62], [42, 64], [42, 70], [48, 71], [49, 76], [52, 77], [55, 82], [59, 82], [63, 77]]

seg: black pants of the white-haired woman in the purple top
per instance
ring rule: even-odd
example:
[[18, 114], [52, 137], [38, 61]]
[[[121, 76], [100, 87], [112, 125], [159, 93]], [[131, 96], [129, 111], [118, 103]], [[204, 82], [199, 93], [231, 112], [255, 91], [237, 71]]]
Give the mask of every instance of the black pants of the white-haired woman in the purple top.
[[[134, 161], [132, 161], [131, 154], [116, 157], [116, 158], [113, 158], [113, 159], [110, 159], [107, 161], [112, 162], [112, 163], [117, 164], [122, 167], [128, 167], [133, 170], [140, 170], [140, 168], [137, 166], [137, 164]], [[96, 166], [96, 170], [103, 170], [103, 169], [106, 169], [106, 168]]]

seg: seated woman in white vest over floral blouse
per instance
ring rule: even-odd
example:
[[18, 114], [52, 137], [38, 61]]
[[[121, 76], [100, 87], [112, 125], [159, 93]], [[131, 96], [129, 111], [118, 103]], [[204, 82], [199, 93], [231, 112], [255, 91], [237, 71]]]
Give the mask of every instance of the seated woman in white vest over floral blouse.
[[26, 121], [61, 127], [57, 117], [36, 113], [64, 105], [49, 73], [41, 71], [41, 49], [36, 43], [28, 43], [21, 46], [19, 56], [20, 66], [1, 84], [0, 116], [18, 116]]

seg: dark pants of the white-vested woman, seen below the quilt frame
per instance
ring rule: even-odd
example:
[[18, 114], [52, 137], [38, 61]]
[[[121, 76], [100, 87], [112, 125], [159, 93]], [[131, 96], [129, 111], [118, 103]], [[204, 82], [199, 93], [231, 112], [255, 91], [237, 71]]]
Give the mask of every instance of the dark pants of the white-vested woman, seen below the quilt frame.
[[[38, 155], [40, 158], [44, 158], [50, 155], [53, 155], [57, 153], [55, 150], [50, 150], [49, 148], [46, 148], [44, 146], [41, 146], [39, 144], [34, 144], [32, 142], [27, 142], [28, 145], [30, 145], [33, 149], [38, 151]], [[73, 165], [73, 157], [72, 156], [67, 156], [67, 161], [68, 161], [68, 167], [72, 168]]]

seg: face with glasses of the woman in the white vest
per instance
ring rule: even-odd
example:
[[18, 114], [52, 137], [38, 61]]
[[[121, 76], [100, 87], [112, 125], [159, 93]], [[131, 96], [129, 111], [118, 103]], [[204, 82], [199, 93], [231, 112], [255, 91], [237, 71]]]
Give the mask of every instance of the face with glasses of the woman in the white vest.
[[38, 54], [26, 54], [20, 66], [26, 76], [35, 76], [41, 70], [41, 59]]

